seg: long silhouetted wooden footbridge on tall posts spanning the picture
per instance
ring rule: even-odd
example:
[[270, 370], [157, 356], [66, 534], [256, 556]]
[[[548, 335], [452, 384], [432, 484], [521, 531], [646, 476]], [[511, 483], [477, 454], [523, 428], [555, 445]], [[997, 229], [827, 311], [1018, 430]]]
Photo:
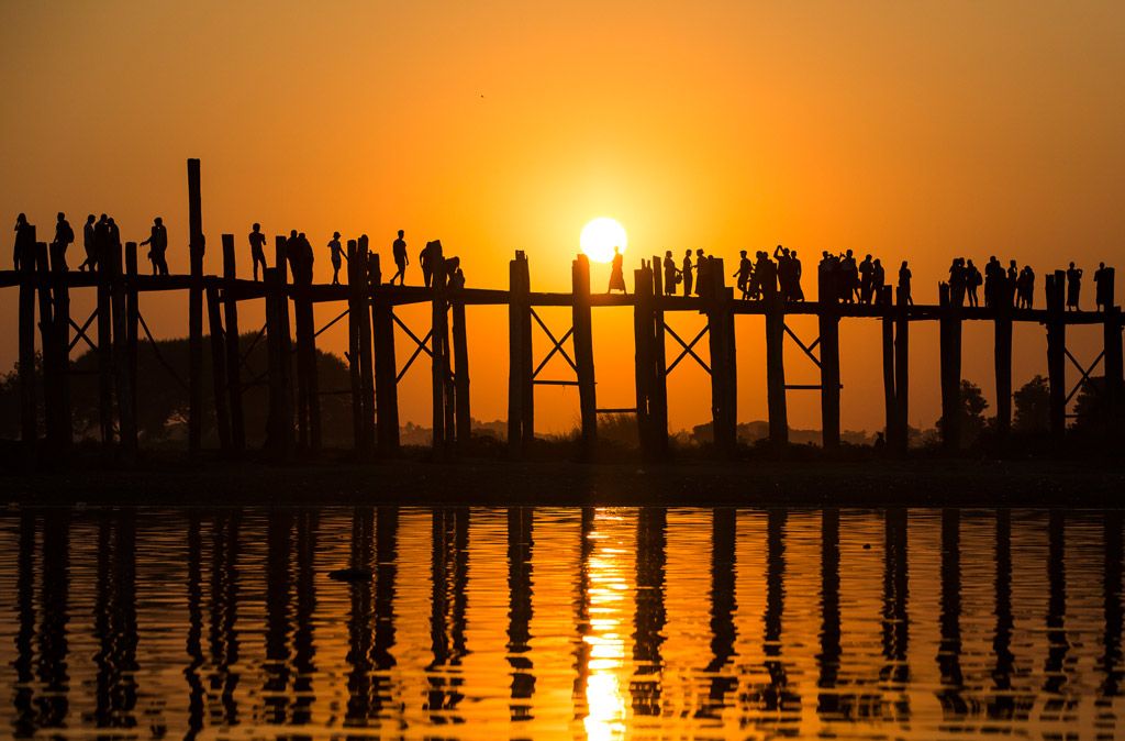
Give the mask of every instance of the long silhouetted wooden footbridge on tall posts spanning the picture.
[[[882, 325], [882, 366], [888, 444], [893, 450], [907, 447], [907, 399], [909, 385], [908, 347], [911, 322], [936, 321], [940, 325], [940, 394], [944, 444], [956, 449], [961, 440], [960, 404], [962, 324], [987, 321], [994, 328], [993, 355], [997, 389], [997, 431], [1006, 436], [1011, 426], [1011, 336], [1016, 322], [1041, 324], [1047, 338], [1047, 375], [1051, 389], [1051, 429], [1062, 436], [1066, 409], [1095, 369], [1101, 365], [1106, 383], [1101, 393], [1114, 419], [1119, 417], [1123, 398], [1122, 312], [1113, 298], [1113, 271], [1109, 269], [1108, 301], [1102, 312], [1064, 311], [1065, 275], [1058, 270], [1046, 276], [1046, 309], [1020, 310], [1010, 301], [997, 309], [966, 307], [940, 286], [937, 305], [914, 305], [886, 287], [874, 304], [837, 302], [786, 302], [774, 293], [763, 300], [736, 298], [724, 285], [722, 260], [714, 259], [702, 295], [668, 296], [662, 285], [660, 259], [642, 260], [633, 273], [631, 295], [593, 294], [590, 264], [578, 256], [573, 264], [570, 293], [543, 293], [531, 289], [529, 262], [516, 252], [510, 264], [507, 289], [452, 288], [448, 285], [446, 261], [434, 260], [433, 287], [390, 286], [382, 283], [379, 256], [369, 253], [354, 240], [348, 242], [346, 285], [298, 285], [288, 276], [286, 240], [277, 238], [276, 264], [258, 283], [236, 275], [235, 243], [223, 234], [223, 275], [204, 275], [202, 209], [199, 160], [188, 160], [190, 274], [146, 276], [137, 271], [137, 245], [126, 242], [102, 257], [96, 273], [65, 271], [62, 265], [48, 264], [45, 242], [36, 242], [34, 260], [24, 260], [22, 269], [0, 271], [0, 288], [16, 287], [19, 294], [19, 382], [22, 439], [28, 461], [45, 447], [52, 457], [65, 457], [73, 441], [70, 404], [70, 354], [86, 342], [97, 357], [99, 378], [100, 430], [104, 440], [117, 440], [117, 452], [126, 465], [137, 450], [136, 396], [140, 332], [155, 347], [155, 340], [141, 313], [141, 296], [151, 292], [187, 291], [189, 316], [188, 378], [177, 378], [189, 392], [189, 448], [200, 452], [202, 440], [204, 374], [210, 373], [214, 385], [215, 418], [222, 449], [238, 456], [245, 449], [242, 395], [262, 378], [244, 378], [246, 351], [238, 346], [238, 304], [263, 301], [266, 325], [255, 336], [268, 347], [269, 422], [267, 448], [279, 459], [296, 449], [316, 454], [321, 449], [321, 390], [316, 372], [316, 338], [328, 327], [346, 320], [349, 350], [346, 361], [351, 380], [353, 439], [357, 453], [392, 455], [398, 447], [397, 384], [421, 356], [431, 360], [433, 398], [433, 453], [443, 458], [454, 455], [470, 435], [469, 357], [465, 309], [470, 305], [508, 307], [508, 440], [513, 457], [528, 449], [534, 437], [534, 387], [573, 385], [578, 387], [582, 417], [582, 443], [586, 453], [596, 445], [597, 416], [610, 412], [636, 413], [644, 453], [659, 458], [667, 452], [667, 376], [682, 363], [699, 364], [711, 380], [711, 411], [718, 455], [730, 456], [736, 448], [737, 350], [735, 316], [759, 314], [765, 318], [766, 384], [770, 437], [788, 441], [786, 393], [820, 392], [824, 445], [839, 445], [840, 370], [839, 323], [844, 319], [875, 320]], [[90, 288], [97, 293], [97, 309], [79, 324], [71, 316], [70, 293]], [[825, 295], [820, 292], [818, 295]], [[204, 368], [204, 305], [206, 297], [212, 367]], [[317, 329], [313, 304], [345, 304], [343, 311]], [[418, 337], [396, 314], [405, 304], [429, 304], [432, 309], [429, 331]], [[561, 336], [554, 333], [537, 309], [569, 306], [573, 324]], [[633, 312], [636, 343], [636, 405], [603, 409], [597, 405], [594, 366], [592, 310], [605, 306], [630, 307]], [[38, 322], [36, 322], [36, 309]], [[290, 312], [291, 309], [291, 312]], [[690, 340], [680, 337], [665, 322], [670, 312], [690, 312], [704, 318], [703, 328]], [[806, 342], [785, 323], [790, 315], [814, 315], [819, 337]], [[292, 318], [290, 327], [290, 316]], [[395, 325], [411, 340], [406, 361], [399, 366], [395, 347]], [[1072, 324], [1100, 324], [1104, 349], [1083, 366], [1066, 348], [1066, 328]], [[551, 349], [546, 357], [532, 355], [536, 327], [544, 333]], [[36, 332], [38, 328], [38, 332]], [[91, 329], [93, 328], [93, 329]], [[43, 355], [46, 437], [38, 439], [35, 394], [36, 333]], [[92, 337], [91, 337], [92, 334]], [[295, 336], [295, 338], [294, 338]], [[785, 338], [819, 368], [820, 383], [795, 385], [785, 382]], [[670, 338], [676, 355], [669, 361], [666, 340]], [[706, 339], [710, 363], [696, 347]], [[296, 341], [294, 341], [294, 339]], [[573, 356], [565, 345], [572, 341]], [[573, 370], [573, 378], [542, 378], [541, 372], [556, 354]], [[1071, 389], [1065, 384], [1068, 361], [1081, 378]], [[170, 370], [176, 374], [174, 368]], [[295, 370], [295, 372], [294, 372]], [[296, 391], [296, 393], [295, 393]]]

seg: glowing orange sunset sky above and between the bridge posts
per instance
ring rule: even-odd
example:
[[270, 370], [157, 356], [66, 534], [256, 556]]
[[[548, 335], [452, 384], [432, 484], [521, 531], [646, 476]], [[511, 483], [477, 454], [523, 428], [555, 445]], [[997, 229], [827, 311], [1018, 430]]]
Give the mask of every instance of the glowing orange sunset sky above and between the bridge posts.
[[[932, 302], [954, 253], [1089, 270], [1125, 236], [1120, 2], [4, 3], [0, 60], [0, 215], [26, 211], [50, 238], [60, 208], [75, 227], [106, 211], [142, 239], [161, 214], [173, 271], [187, 268], [188, 157], [202, 160], [208, 271], [218, 234], [244, 248], [256, 220], [307, 232], [318, 279], [333, 230], [388, 255], [402, 227], [412, 253], [440, 238], [460, 255], [470, 285], [503, 286], [524, 249], [532, 286], [565, 289], [583, 224], [611, 215], [630, 261], [782, 242], [808, 271], [821, 249], [853, 248], [908, 257]], [[2, 368], [14, 298], [0, 301]], [[159, 334], [184, 333], [186, 298], [142, 309]], [[504, 311], [469, 321], [474, 416], [502, 418]], [[623, 310], [595, 314], [600, 405], [631, 405], [630, 327]], [[843, 330], [848, 428], [882, 425], [878, 332]], [[1098, 331], [1073, 334], [1092, 357]], [[964, 375], [991, 398], [990, 338], [966, 329]], [[322, 340], [341, 351], [345, 334]], [[740, 319], [738, 342], [739, 420], [764, 419], [760, 320]], [[916, 325], [912, 425], [938, 416], [936, 345]], [[1017, 331], [1017, 385], [1045, 370], [1044, 348], [1040, 328]], [[793, 382], [814, 380], [786, 352]], [[404, 421], [429, 419], [421, 367], [404, 380]], [[681, 373], [674, 428], [710, 414], [705, 377]], [[537, 403], [541, 429], [577, 418], [573, 390]], [[790, 408], [793, 426], [819, 426], [814, 394]]]

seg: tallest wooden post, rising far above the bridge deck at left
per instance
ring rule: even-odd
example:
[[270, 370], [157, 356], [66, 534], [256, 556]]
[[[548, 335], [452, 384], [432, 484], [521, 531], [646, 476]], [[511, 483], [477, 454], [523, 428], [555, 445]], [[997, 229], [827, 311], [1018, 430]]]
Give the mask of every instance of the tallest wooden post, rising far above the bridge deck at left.
[[188, 449], [198, 455], [204, 414], [204, 217], [199, 188], [199, 160], [188, 160]]

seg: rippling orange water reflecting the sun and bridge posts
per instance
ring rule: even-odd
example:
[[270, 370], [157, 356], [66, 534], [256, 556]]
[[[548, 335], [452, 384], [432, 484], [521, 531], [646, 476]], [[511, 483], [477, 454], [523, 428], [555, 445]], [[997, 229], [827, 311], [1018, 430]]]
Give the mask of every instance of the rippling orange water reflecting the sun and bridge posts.
[[[1120, 512], [0, 515], [0, 735], [1125, 738]], [[372, 570], [362, 583], [328, 571]]]

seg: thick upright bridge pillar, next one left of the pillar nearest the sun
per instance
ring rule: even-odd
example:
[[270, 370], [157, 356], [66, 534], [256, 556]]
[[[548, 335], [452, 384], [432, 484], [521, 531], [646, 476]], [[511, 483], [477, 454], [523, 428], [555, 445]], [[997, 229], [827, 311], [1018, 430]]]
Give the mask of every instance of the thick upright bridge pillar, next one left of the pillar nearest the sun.
[[508, 264], [507, 446], [522, 457], [534, 437], [534, 386], [531, 380], [531, 306], [528, 258], [516, 250]]

